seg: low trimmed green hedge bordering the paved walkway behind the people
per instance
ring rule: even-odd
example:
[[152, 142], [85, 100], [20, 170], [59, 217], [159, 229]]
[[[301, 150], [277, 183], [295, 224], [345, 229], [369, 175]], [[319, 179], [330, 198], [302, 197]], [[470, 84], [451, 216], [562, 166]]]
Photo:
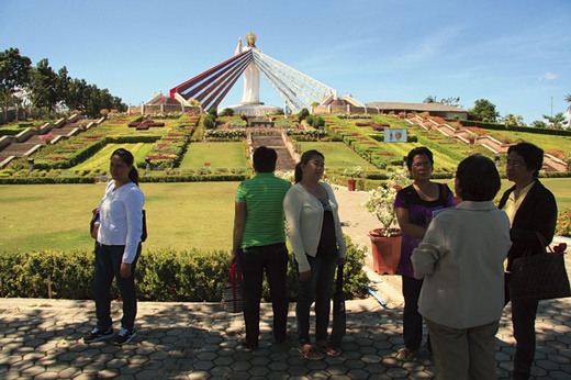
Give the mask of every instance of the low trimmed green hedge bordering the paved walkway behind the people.
[[[348, 252], [344, 290], [347, 298], [366, 293], [362, 271], [365, 253], [346, 237]], [[147, 252], [143, 247], [136, 266], [138, 299], [156, 302], [216, 302], [227, 278], [228, 252]], [[0, 253], [0, 297], [90, 300], [94, 268], [93, 252]], [[288, 292], [295, 299], [298, 275], [293, 254], [288, 267]], [[116, 287], [113, 294], [119, 294]], [[264, 298], [269, 299], [265, 286]]]

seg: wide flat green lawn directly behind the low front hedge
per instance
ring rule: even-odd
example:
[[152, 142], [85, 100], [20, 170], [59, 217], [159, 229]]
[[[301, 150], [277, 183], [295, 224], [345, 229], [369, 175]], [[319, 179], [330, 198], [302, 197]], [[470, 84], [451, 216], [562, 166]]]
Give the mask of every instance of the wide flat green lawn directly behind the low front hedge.
[[[571, 179], [542, 182], [556, 194], [560, 210], [571, 209]], [[510, 186], [504, 180], [501, 191]], [[229, 250], [237, 187], [238, 182], [142, 183], [149, 234], [145, 248]], [[0, 252], [91, 249], [89, 220], [103, 191], [104, 185], [0, 186]]]

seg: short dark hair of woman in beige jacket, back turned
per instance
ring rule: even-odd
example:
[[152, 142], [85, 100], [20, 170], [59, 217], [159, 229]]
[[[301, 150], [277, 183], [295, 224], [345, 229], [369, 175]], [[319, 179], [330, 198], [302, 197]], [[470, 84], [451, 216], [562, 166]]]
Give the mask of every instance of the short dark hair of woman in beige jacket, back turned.
[[458, 165], [456, 180], [457, 195], [463, 201], [491, 201], [502, 186], [495, 164], [482, 155], [464, 158]]

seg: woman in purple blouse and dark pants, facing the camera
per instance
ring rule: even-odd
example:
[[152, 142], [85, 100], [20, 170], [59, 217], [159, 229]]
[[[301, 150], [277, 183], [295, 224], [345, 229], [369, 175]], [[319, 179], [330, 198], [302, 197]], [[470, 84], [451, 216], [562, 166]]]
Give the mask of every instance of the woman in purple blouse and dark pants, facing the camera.
[[[430, 149], [422, 146], [408, 152], [406, 167], [413, 177], [413, 185], [399, 191], [394, 201], [396, 219], [403, 233], [399, 272], [402, 276], [404, 297], [403, 338], [404, 348], [396, 357], [403, 361], [416, 359], [423, 338], [423, 317], [418, 313], [418, 295], [423, 280], [414, 278], [411, 256], [423, 241], [434, 213], [456, 205], [454, 193], [445, 183], [430, 180], [434, 158]], [[427, 348], [432, 351], [428, 338]]]

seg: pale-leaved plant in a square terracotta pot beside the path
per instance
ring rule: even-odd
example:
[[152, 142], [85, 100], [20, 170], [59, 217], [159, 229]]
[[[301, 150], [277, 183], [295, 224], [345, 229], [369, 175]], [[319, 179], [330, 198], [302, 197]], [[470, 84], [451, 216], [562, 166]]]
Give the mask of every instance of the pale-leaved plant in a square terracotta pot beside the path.
[[394, 275], [401, 258], [402, 232], [398, 225], [393, 203], [396, 192], [411, 182], [405, 169], [395, 170], [385, 185], [369, 191], [365, 206], [374, 213], [382, 227], [369, 232], [372, 245], [373, 270]]

